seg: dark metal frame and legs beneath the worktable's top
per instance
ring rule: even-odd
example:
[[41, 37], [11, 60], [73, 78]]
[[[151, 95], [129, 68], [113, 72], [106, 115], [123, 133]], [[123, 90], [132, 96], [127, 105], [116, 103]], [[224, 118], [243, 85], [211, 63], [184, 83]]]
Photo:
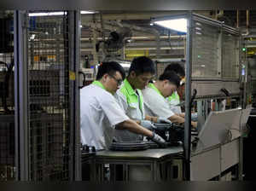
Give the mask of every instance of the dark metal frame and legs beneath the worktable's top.
[[[122, 152], [121, 152], [122, 153]], [[141, 166], [150, 166], [150, 174], [152, 181], [167, 181], [172, 180], [172, 167], [173, 167], [173, 160], [175, 161], [179, 160], [182, 161], [181, 158], [177, 156], [178, 153], [174, 153], [173, 155], [166, 154], [168, 156], [162, 156], [160, 158], [148, 158], [146, 156], [138, 156], [137, 158], [134, 157], [127, 157], [124, 158], [118, 154], [117, 156], [108, 156], [108, 153], [103, 153], [102, 155], [96, 154], [95, 156], [95, 164], [92, 164], [92, 167], [95, 167], [94, 174], [96, 176], [96, 179], [94, 181], [96, 182], [103, 182], [104, 181], [104, 165], [109, 164], [110, 166], [110, 181], [115, 182], [116, 181], [116, 165], [123, 165], [123, 176], [125, 182], [130, 181], [129, 180], [129, 166], [133, 165], [141, 165]], [[95, 166], [94, 166], [95, 165]], [[176, 163], [177, 165], [177, 163]], [[177, 178], [179, 180], [182, 179], [182, 165], [177, 165], [179, 167], [179, 171], [177, 174]], [[181, 169], [180, 169], [181, 168]], [[162, 177], [160, 176], [162, 174]]]

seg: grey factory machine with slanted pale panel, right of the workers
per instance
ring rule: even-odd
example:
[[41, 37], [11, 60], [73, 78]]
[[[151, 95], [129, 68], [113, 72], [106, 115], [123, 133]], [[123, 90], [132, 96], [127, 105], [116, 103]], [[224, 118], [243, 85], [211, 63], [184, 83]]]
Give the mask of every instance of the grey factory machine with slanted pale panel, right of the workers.
[[198, 136], [191, 136], [187, 172], [195, 181], [241, 180], [242, 141], [251, 111], [241, 35], [198, 14], [192, 14], [189, 23], [186, 94], [196, 93], [191, 111], [198, 114]]

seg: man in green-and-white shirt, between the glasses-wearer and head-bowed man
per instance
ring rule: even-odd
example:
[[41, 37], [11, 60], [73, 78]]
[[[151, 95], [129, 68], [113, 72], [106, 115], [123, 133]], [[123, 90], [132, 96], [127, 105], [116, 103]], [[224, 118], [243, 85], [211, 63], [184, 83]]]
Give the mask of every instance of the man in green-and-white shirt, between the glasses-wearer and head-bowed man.
[[[168, 119], [157, 118], [145, 115], [143, 103], [143, 90], [149, 80], [154, 77], [155, 68], [154, 62], [146, 57], [140, 56], [131, 62], [128, 77], [125, 78], [124, 83], [117, 90], [114, 95], [119, 103], [119, 106], [125, 111], [129, 118], [137, 121], [147, 129], [154, 129], [152, 122], [167, 122], [171, 123]], [[115, 141], [117, 142], [139, 142], [142, 137], [132, 133], [128, 130], [115, 130]]]

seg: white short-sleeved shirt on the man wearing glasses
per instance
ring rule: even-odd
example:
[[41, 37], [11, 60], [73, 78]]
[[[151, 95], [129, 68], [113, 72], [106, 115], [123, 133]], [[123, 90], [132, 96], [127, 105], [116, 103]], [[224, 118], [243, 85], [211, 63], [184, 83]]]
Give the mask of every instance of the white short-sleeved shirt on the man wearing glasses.
[[81, 142], [96, 149], [108, 149], [114, 125], [129, 119], [113, 95], [96, 81], [80, 90]]

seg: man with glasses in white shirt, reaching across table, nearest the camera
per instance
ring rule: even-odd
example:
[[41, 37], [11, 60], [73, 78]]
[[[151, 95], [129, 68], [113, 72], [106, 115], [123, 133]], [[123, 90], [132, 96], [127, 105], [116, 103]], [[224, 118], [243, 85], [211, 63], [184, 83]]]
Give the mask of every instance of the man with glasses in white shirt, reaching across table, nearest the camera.
[[125, 78], [124, 68], [117, 62], [105, 62], [98, 68], [96, 81], [80, 90], [81, 142], [108, 149], [113, 142], [115, 129], [131, 130], [148, 136], [152, 141], [165, 145], [153, 131], [129, 119], [113, 97]]

